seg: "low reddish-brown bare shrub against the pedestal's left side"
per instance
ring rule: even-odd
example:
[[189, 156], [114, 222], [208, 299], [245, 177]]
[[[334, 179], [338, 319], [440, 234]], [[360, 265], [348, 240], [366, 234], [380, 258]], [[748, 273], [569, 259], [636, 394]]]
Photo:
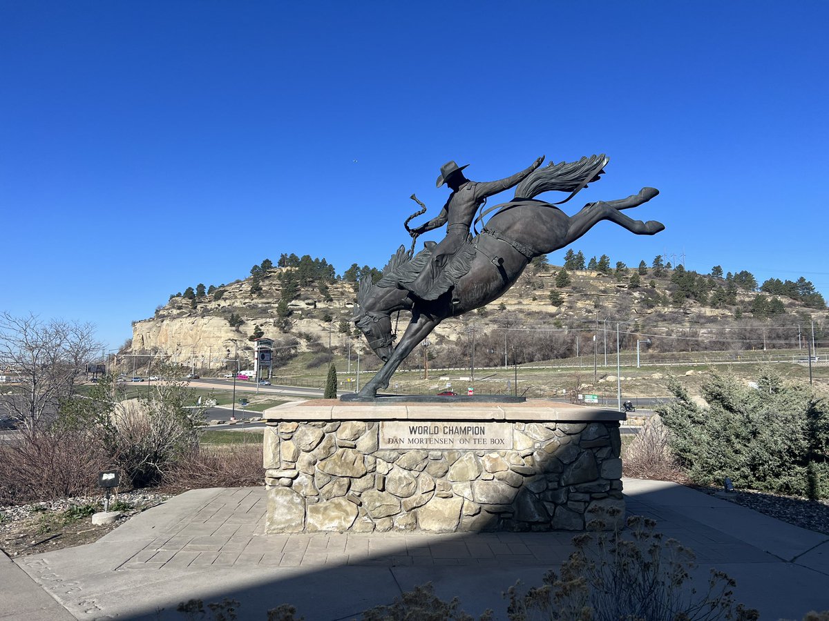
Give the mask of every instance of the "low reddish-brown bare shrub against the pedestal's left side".
[[246, 487], [263, 483], [262, 444], [196, 447], [181, 455], [165, 482], [181, 488]]

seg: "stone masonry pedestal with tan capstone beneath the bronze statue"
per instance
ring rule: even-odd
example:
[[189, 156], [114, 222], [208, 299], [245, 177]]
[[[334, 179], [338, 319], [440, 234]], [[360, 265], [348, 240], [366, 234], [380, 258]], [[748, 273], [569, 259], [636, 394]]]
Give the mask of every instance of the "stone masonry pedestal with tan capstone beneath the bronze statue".
[[266, 532], [604, 529], [619, 412], [560, 402], [303, 402], [264, 412]]

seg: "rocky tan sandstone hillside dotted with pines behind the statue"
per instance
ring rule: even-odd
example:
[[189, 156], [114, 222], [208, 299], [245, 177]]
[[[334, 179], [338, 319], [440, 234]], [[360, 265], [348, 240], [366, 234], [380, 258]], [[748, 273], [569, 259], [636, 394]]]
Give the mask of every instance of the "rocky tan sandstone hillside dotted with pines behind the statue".
[[[589, 262], [596, 269], [574, 269], [574, 265], [583, 267], [581, 253], [577, 258], [570, 251], [565, 258], [569, 270], [547, 265], [544, 258], [536, 260], [501, 299], [445, 320], [429, 337], [429, 359], [436, 366], [463, 366], [473, 338], [479, 365], [503, 363], [505, 349], [510, 363], [584, 355], [585, 349], [594, 350], [597, 332], [603, 341], [599, 349], [607, 346], [608, 338], [615, 339], [616, 322], [626, 322], [620, 330], [622, 349], [635, 350], [637, 340], [644, 341], [642, 347], [647, 346], [650, 355], [701, 350], [739, 353], [764, 346], [798, 354], [805, 352], [798, 346], [807, 346], [812, 320], [818, 341], [827, 325], [827, 309], [819, 294], [817, 305], [814, 296], [806, 301], [822, 309], [756, 291], [749, 272], [721, 277], [718, 267], [713, 270], [718, 275], [710, 276], [686, 272], [681, 266], [644, 264], [638, 269], [618, 264], [611, 270], [604, 256]], [[355, 282], [361, 274], [379, 272], [354, 265], [335, 277], [324, 259], [306, 256], [291, 261], [283, 255], [280, 264], [286, 263], [291, 267], [274, 267], [266, 260], [243, 280], [209, 289], [200, 284], [170, 296], [155, 316], [133, 323], [132, 347], [122, 353], [166, 356], [185, 367], [215, 372], [235, 367], [237, 359], [244, 368], [252, 359], [250, 339], [255, 336], [277, 341], [276, 365], [310, 352], [317, 354], [308, 356], [308, 364], [315, 367], [327, 362], [331, 350], [366, 349], [350, 321]], [[763, 286], [788, 291], [786, 286], [795, 285], [777, 281]], [[401, 314], [400, 332], [407, 322], [407, 315]]]

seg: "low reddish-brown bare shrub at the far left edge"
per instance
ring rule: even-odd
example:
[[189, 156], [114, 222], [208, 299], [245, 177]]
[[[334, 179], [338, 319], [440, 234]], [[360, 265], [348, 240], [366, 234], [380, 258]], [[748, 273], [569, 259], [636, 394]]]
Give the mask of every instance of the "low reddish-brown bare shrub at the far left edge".
[[90, 434], [21, 434], [0, 446], [0, 505], [93, 492], [98, 473], [111, 465]]

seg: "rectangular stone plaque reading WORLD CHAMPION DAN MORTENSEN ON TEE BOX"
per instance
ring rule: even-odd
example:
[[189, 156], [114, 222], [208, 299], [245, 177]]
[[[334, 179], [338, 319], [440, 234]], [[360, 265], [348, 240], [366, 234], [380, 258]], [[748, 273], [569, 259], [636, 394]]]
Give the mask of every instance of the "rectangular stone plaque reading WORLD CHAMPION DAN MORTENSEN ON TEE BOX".
[[507, 422], [381, 421], [381, 449], [512, 448], [512, 425]]

